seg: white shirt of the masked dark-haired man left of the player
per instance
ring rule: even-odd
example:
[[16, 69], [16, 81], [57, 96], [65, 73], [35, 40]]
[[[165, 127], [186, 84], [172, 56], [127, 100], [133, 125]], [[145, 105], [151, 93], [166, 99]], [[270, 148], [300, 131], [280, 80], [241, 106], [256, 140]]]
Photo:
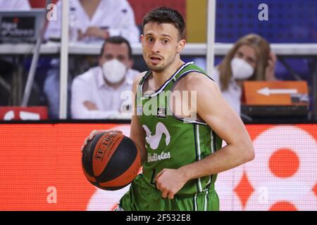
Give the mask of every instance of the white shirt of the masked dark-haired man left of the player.
[[[114, 89], [104, 81], [101, 67], [94, 67], [75, 77], [72, 84], [71, 115], [73, 119], [105, 119], [120, 115], [121, 107], [131, 104], [132, 82], [139, 72], [129, 69], [125, 82]], [[88, 110], [83, 103], [91, 101], [99, 110]]]

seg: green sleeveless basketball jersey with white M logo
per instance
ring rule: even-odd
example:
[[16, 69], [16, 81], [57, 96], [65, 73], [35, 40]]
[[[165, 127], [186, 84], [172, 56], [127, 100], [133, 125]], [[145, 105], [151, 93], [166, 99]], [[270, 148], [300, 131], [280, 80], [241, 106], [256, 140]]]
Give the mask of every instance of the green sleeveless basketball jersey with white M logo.
[[[176, 117], [169, 108], [170, 90], [180, 77], [189, 72], [207, 76], [193, 63], [186, 63], [151, 95], [143, 93], [142, 89], [151, 71], [142, 77], [137, 87], [137, 115], [146, 133], [147, 160], [143, 165], [143, 174], [147, 183], [154, 188], [154, 179], [162, 169], [178, 169], [202, 160], [221, 148], [222, 140], [208, 124]], [[200, 193], [213, 187], [216, 176], [213, 174], [190, 180], [178, 194]]]

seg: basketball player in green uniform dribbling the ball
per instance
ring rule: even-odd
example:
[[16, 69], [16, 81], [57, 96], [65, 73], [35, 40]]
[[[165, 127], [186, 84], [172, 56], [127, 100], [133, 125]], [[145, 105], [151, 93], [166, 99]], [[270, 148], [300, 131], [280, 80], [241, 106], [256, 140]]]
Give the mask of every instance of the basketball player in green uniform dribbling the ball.
[[218, 86], [180, 59], [184, 36], [178, 11], [161, 7], [145, 15], [141, 41], [150, 70], [133, 84], [130, 131], [143, 173], [117, 210], [219, 210], [217, 174], [254, 159], [249, 134]]

